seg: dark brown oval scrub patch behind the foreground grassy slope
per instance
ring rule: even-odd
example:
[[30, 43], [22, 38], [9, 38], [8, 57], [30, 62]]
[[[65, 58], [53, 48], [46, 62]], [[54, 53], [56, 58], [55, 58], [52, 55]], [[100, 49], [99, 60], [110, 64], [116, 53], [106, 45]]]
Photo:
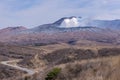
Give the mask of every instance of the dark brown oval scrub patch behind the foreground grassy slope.
[[96, 57], [92, 50], [83, 49], [60, 49], [44, 56], [50, 64], [63, 64], [73, 62], [75, 60], [90, 59]]

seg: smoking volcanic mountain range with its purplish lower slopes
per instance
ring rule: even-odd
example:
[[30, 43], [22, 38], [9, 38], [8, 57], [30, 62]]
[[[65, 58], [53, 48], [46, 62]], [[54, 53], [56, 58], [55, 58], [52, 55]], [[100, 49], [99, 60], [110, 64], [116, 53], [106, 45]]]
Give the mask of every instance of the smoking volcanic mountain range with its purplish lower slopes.
[[11, 44], [34, 45], [78, 40], [119, 44], [120, 20], [90, 20], [72, 16], [31, 29], [19, 26], [0, 30], [0, 42]]

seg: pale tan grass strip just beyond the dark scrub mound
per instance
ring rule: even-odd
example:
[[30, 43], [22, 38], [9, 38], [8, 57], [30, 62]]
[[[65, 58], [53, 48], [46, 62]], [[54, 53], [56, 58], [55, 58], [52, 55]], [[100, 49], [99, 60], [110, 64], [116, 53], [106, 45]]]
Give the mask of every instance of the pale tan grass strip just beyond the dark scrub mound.
[[92, 49], [96, 52], [98, 49], [101, 49], [101, 48], [120, 48], [120, 45], [107, 44], [107, 43], [102, 44], [95, 41], [80, 40], [80, 41], [77, 41], [75, 45], [70, 45], [67, 43], [58, 43], [58, 44], [50, 44], [45, 46], [34, 46], [30, 48], [43, 50], [44, 53], [51, 53], [55, 50], [64, 49], [64, 48]]

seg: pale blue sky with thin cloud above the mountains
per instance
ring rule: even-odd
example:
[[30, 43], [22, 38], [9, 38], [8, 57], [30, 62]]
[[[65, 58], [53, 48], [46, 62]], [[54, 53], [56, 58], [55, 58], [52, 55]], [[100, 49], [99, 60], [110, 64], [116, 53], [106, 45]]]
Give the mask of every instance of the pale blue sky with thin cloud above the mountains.
[[0, 0], [0, 28], [32, 28], [65, 16], [120, 19], [120, 0]]

